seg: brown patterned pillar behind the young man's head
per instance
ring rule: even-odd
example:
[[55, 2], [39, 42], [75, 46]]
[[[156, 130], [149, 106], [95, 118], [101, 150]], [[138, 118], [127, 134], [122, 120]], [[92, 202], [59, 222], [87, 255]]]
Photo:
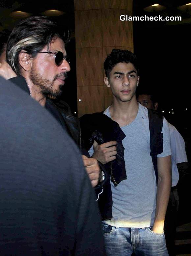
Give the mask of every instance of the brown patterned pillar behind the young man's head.
[[[133, 51], [132, 0], [74, 0], [78, 117], [111, 105], [103, 62], [113, 48]], [[79, 101], [80, 100], [80, 101]]]

